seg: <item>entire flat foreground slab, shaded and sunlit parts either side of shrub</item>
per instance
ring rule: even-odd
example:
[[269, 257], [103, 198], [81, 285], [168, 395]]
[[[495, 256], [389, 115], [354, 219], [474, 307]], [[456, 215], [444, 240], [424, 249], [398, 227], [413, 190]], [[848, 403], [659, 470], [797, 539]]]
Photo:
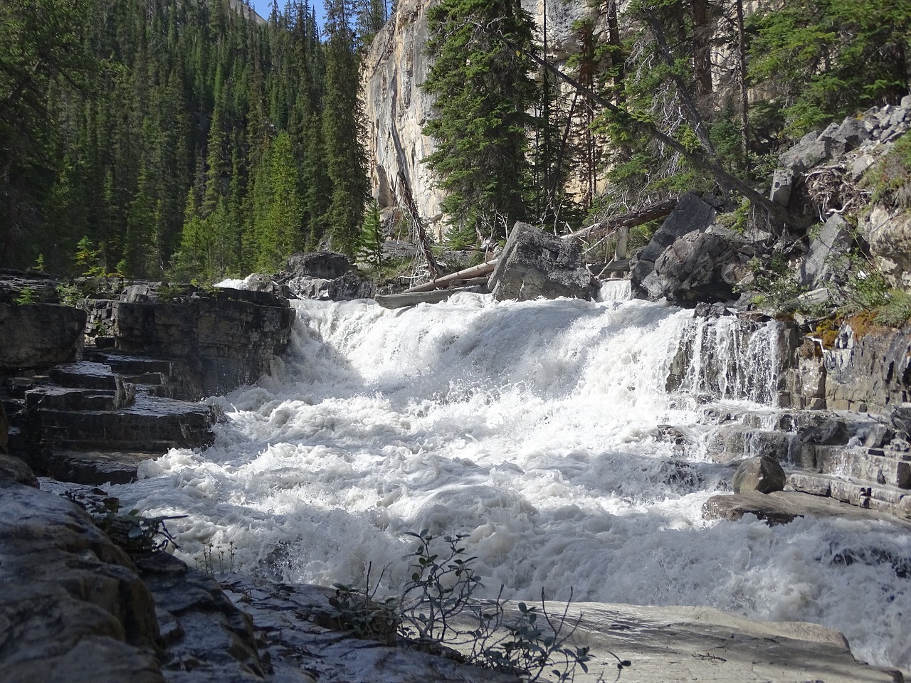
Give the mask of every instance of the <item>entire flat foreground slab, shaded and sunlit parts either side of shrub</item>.
[[[274, 584], [239, 575], [222, 576], [221, 584], [231, 600], [251, 615], [277, 676], [296, 668], [311, 672], [321, 682], [516, 680], [317, 626], [311, 619], [332, 610], [327, 603], [333, 595], [330, 588]], [[565, 607], [557, 602], [546, 605], [552, 615], [562, 614]], [[516, 604], [509, 603], [508, 608], [515, 610]], [[592, 661], [588, 672], [576, 672], [577, 683], [614, 680], [619, 660], [630, 662], [620, 674], [622, 683], [903, 680], [898, 671], [857, 662], [844, 636], [818, 624], [764, 623], [711, 607], [604, 603], [574, 603], [568, 618], [575, 621], [580, 612], [568, 644], [590, 647]]]

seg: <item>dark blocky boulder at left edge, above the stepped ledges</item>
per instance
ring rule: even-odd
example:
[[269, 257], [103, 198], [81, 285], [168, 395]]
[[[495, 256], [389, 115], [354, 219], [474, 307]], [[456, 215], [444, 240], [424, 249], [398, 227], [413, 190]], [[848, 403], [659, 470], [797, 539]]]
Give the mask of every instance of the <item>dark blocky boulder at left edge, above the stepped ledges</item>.
[[0, 303], [0, 372], [76, 360], [85, 328], [86, 311], [54, 303]]

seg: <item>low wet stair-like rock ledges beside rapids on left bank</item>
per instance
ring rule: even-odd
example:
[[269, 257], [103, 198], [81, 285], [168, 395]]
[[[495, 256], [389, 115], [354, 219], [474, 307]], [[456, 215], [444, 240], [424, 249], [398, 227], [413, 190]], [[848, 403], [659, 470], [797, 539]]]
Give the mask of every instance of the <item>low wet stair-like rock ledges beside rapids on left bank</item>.
[[220, 410], [180, 401], [168, 359], [87, 347], [91, 360], [7, 382], [12, 448], [62, 481], [122, 484], [138, 465], [170, 448], [200, 448], [214, 439]]

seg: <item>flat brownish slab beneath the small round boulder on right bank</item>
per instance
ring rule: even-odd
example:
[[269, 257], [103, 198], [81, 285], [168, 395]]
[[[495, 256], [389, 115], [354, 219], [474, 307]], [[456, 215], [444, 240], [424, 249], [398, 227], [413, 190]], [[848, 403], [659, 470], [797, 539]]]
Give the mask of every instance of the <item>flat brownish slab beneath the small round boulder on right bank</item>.
[[713, 495], [702, 506], [702, 516], [706, 519], [727, 519], [735, 522], [743, 515], [756, 515], [770, 525], [787, 524], [797, 517], [812, 515], [845, 519], [884, 519], [911, 528], [911, 525], [892, 515], [840, 503], [833, 498], [796, 491], [775, 491], [771, 494], [751, 491], [746, 494]]

